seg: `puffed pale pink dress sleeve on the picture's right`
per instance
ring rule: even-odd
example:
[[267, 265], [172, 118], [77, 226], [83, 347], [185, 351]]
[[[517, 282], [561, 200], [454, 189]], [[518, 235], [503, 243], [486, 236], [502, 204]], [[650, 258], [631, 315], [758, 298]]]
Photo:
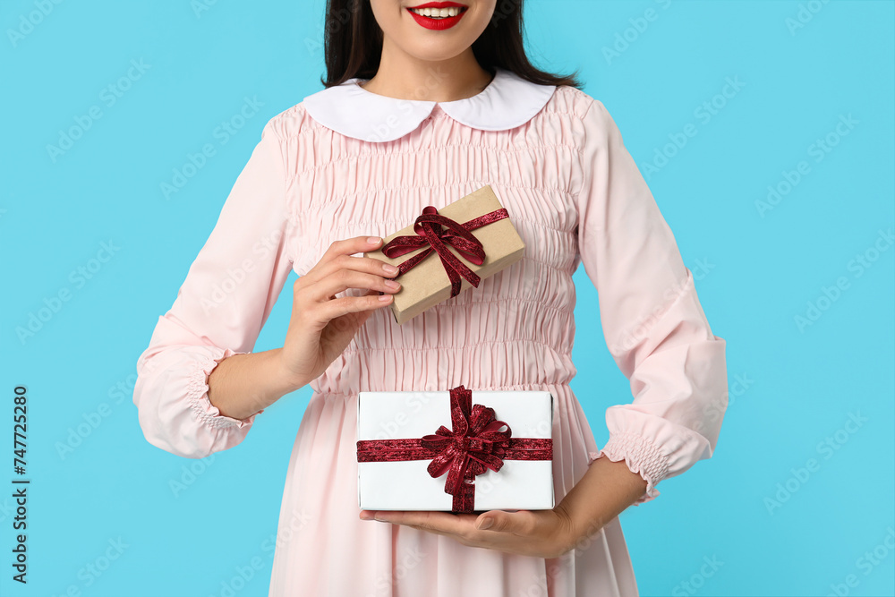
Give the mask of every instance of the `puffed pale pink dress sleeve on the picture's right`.
[[629, 404], [606, 411], [609, 440], [590, 454], [624, 459], [647, 489], [710, 458], [727, 409], [726, 342], [714, 336], [674, 235], [606, 107], [582, 117], [578, 251], [597, 289], [609, 353]]

